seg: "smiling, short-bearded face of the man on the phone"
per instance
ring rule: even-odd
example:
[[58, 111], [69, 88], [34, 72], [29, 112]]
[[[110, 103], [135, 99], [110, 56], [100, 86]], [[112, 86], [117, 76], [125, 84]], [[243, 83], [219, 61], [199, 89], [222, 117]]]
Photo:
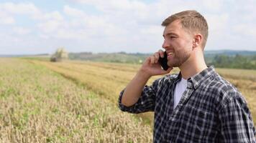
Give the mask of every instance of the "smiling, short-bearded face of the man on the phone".
[[178, 20], [173, 21], [163, 31], [163, 48], [168, 54], [168, 66], [179, 67], [188, 60], [193, 46], [192, 34], [182, 28]]

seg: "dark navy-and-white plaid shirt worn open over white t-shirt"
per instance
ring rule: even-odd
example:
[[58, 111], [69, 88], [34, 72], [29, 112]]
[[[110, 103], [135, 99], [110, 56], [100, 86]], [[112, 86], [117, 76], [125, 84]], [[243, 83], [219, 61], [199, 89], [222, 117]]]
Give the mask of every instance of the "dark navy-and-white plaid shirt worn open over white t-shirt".
[[188, 79], [188, 87], [173, 109], [175, 84], [181, 74], [169, 74], [145, 86], [124, 112], [155, 112], [154, 142], [255, 142], [255, 127], [242, 94], [214, 71], [201, 71]]

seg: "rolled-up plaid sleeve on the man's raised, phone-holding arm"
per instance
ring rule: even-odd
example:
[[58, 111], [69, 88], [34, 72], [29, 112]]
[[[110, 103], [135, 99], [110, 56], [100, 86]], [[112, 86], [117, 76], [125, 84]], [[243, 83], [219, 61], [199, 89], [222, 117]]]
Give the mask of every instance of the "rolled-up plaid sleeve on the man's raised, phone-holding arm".
[[124, 94], [124, 89], [119, 95], [119, 109], [123, 112], [130, 113], [142, 113], [142, 112], [154, 112], [155, 111], [155, 97], [157, 94], [157, 88], [160, 84], [160, 79], [155, 80], [152, 85], [145, 85], [142, 90], [142, 94], [140, 99], [138, 99], [137, 103], [132, 105], [131, 107], [126, 107], [121, 103], [122, 96]]

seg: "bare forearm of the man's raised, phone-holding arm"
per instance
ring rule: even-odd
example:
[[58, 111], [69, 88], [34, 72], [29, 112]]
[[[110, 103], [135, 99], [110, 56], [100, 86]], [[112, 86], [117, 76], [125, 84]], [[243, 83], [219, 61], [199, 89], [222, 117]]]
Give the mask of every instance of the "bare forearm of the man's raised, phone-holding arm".
[[150, 75], [145, 74], [141, 70], [137, 72], [136, 76], [124, 90], [121, 101], [124, 106], [130, 107], [138, 101], [148, 79], [150, 79]]

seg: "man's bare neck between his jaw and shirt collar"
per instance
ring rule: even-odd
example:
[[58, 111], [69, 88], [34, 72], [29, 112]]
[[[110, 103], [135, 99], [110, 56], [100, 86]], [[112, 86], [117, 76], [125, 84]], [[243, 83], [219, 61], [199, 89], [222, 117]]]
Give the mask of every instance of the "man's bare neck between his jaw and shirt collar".
[[202, 51], [194, 51], [193, 54], [179, 66], [183, 79], [193, 77], [193, 75], [200, 73], [204, 69], [207, 69], [204, 61], [204, 53]]

